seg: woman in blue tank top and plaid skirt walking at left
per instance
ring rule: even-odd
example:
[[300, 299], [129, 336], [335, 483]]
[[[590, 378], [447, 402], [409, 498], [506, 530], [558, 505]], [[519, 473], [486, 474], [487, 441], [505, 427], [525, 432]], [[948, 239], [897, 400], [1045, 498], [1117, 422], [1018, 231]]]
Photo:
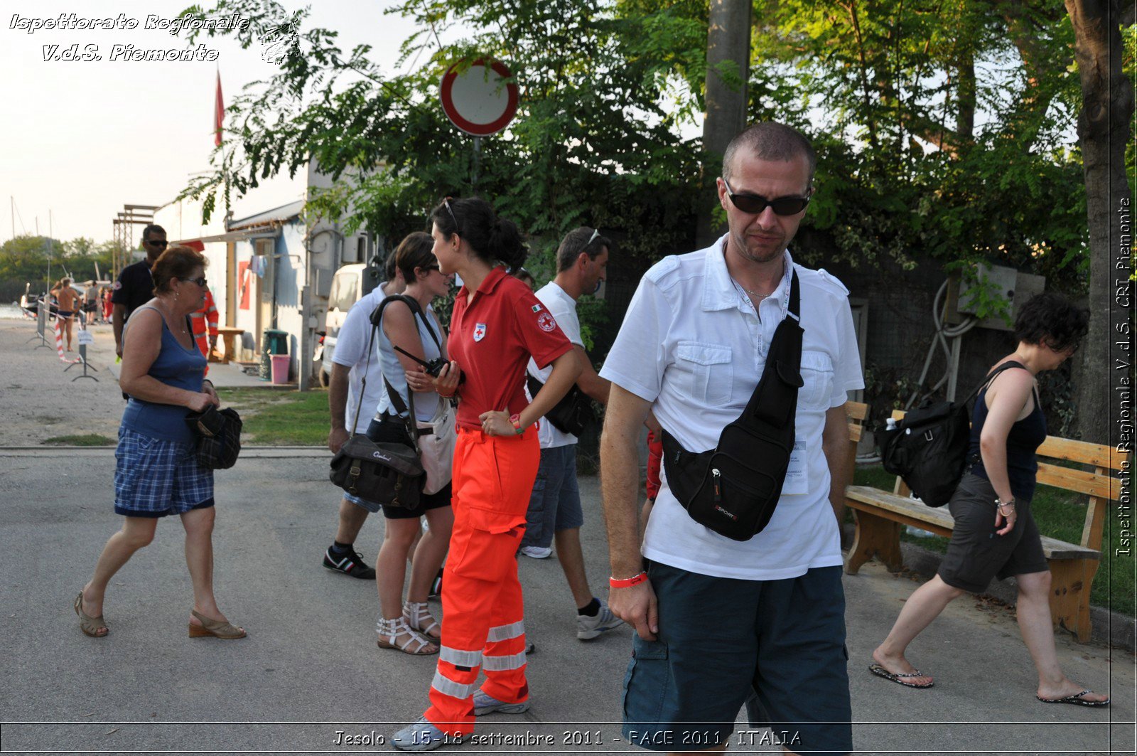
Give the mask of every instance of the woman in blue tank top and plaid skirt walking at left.
[[135, 551], [153, 540], [159, 517], [179, 515], [193, 582], [190, 638], [244, 638], [225, 619], [213, 593], [213, 470], [198, 466], [190, 411], [217, 405], [204, 380], [206, 359], [189, 314], [206, 295], [206, 258], [171, 247], [153, 264], [153, 298], [133, 312], [123, 334], [118, 384], [130, 396], [115, 451], [115, 512], [123, 527], [103, 547], [94, 575], [75, 598], [80, 628], [92, 638], [109, 631], [102, 619], [107, 583]]

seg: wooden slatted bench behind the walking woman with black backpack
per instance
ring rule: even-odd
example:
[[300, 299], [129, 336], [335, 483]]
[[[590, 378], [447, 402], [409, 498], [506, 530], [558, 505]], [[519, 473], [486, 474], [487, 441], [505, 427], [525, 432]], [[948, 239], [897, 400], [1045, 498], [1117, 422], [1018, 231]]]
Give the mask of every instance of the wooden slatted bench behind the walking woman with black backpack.
[[[846, 406], [852, 435], [855, 425], [863, 425], [864, 413], [858, 408]], [[903, 417], [902, 411], [893, 412], [893, 418], [897, 420]], [[857, 428], [857, 437], [861, 432]], [[1121, 482], [1113, 474], [1114, 470], [1122, 469], [1124, 458], [1110, 446], [1055, 436], [1046, 437], [1038, 449], [1038, 457], [1039, 484], [1086, 494], [1088, 498], [1079, 543], [1043, 536], [1043, 551], [1051, 566], [1051, 616], [1054, 626], [1063, 625], [1085, 643], [1089, 640], [1090, 631], [1090, 585], [1102, 557], [1102, 526], [1110, 510], [1110, 502], [1120, 496]], [[1043, 459], [1077, 462], [1093, 467], [1093, 471], [1061, 467]], [[937, 535], [952, 535], [955, 523], [947, 507], [928, 507], [911, 499], [910, 493], [899, 476], [891, 493], [871, 486], [848, 487], [845, 503], [853, 510], [856, 533], [845, 559], [847, 574], [855, 575], [861, 565], [873, 557], [885, 562], [889, 570], [899, 572], [903, 566], [901, 527], [904, 525]]]

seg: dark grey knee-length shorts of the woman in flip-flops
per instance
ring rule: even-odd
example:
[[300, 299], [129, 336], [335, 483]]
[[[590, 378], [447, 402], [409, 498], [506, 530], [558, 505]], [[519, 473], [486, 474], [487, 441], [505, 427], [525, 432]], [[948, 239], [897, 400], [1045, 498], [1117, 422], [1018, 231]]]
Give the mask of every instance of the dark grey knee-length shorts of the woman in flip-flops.
[[1030, 502], [1015, 501], [1014, 527], [1006, 535], [998, 535], [996, 495], [989, 480], [969, 472], [947, 504], [955, 526], [938, 575], [952, 587], [981, 593], [993, 577], [1006, 580], [1049, 569], [1038, 525], [1030, 515]]

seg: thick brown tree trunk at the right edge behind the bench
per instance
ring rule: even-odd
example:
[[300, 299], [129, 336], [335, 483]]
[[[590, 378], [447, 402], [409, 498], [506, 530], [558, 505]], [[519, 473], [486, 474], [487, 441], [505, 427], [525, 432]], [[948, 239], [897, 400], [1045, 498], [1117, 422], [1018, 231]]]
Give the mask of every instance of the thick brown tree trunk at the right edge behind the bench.
[[[1121, 9], [1110, 0], [1065, 0], [1081, 79], [1078, 117], [1089, 220], [1089, 335], [1081, 352], [1078, 429], [1084, 441], [1117, 446], [1122, 424], [1132, 428], [1131, 335], [1120, 330], [1132, 306], [1130, 249], [1132, 197], [1126, 180], [1126, 145], [1132, 89], [1121, 69]], [[1128, 328], [1126, 329], [1128, 331]]]

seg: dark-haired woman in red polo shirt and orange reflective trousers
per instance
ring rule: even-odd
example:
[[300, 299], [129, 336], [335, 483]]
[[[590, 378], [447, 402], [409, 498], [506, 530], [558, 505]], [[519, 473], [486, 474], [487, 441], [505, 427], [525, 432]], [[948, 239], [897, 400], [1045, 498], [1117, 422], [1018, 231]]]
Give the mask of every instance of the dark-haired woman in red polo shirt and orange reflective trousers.
[[[474, 716], [529, 708], [517, 548], [540, 446], [534, 424], [568, 393], [580, 364], [553, 315], [506, 266], [525, 260], [517, 227], [483, 199], [445, 199], [431, 214], [442, 273], [464, 282], [450, 317], [450, 363], [438, 378], [408, 372], [413, 391], [457, 393], [454, 533], [442, 583], [442, 639], [431, 707], [392, 738], [402, 750], [432, 750], [468, 734]], [[526, 403], [525, 365], [551, 363]], [[462, 383], [459, 384], [459, 379]], [[480, 668], [485, 682], [475, 687]]]

